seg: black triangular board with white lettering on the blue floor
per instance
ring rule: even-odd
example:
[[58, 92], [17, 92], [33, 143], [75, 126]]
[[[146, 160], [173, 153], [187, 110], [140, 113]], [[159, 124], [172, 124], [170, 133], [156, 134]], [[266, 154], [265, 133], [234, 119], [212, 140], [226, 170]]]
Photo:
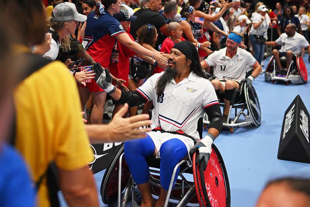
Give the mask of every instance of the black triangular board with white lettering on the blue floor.
[[297, 95], [284, 113], [278, 159], [310, 163], [309, 112]]

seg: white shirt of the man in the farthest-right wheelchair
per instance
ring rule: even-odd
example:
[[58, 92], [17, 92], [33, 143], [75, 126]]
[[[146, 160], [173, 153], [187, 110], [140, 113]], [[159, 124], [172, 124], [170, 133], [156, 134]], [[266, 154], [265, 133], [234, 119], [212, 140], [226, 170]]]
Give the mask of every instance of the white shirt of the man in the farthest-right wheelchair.
[[282, 46], [279, 52], [291, 50], [294, 55], [299, 55], [301, 48], [309, 47], [306, 38], [298, 32], [295, 32], [293, 37], [288, 37], [286, 33], [282, 33], [276, 43]]

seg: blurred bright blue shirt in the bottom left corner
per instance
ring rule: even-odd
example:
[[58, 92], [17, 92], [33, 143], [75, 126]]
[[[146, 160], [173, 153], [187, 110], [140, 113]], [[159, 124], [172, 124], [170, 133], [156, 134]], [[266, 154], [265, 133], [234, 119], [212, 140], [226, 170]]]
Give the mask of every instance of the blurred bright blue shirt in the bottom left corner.
[[0, 206], [35, 207], [35, 189], [22, 157], [8, 145], [0, 148]]

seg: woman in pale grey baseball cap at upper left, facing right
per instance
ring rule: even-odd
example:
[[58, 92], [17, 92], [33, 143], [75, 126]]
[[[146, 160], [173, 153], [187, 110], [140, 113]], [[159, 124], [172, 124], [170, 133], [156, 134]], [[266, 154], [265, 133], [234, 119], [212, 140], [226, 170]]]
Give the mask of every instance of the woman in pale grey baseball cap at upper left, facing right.
[[[52, 61], [56, 60], [62, 39], [68, 38], [68, 34], [73, 34], [77, 29], [78, 22], [84, 22], [86, 19], [87, 16], [78, 14], [74, 3], [64, 2], [55, 6], [48, 23], [49, 32], [52, 33], [51, 47], [43, 57]], [[68, 59], [65, 64], [68, 65], [70, 62], [71, 60]]]

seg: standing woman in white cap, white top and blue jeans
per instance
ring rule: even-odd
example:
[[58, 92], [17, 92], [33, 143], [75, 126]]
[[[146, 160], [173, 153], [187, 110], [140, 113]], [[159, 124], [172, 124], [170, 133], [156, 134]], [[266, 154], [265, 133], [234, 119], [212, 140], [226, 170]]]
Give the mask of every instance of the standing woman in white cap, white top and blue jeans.
[[261, 5], [258, 7], [259, 14], [255, 15], [252, 18], [252, 27], [250, 30], [249, 39], [254, 48], [254, 57], [258, 61], [259, 64], [263, 61], [264, 54], [264, 40], [265, 36], [267, 36], [267, 30], [269, 27], [272, 27], [273, 24], [276, 24], [276, 21], [273, 23], [270, 22], [270, 18], [267, 15], [268, 9], [265, 5]]

